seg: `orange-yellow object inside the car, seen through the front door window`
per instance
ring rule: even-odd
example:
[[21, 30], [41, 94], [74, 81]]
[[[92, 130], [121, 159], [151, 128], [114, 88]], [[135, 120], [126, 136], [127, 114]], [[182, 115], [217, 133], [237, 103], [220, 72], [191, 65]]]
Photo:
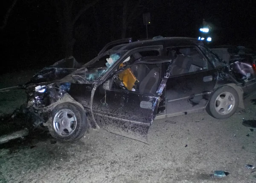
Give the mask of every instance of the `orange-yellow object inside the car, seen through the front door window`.
[[[125, 66], [123, 63], [120, 64], [119, 68]], [[122, 80], [122, 83], [124, 84], [125, 88], [128, 90], [131, 90], [134, 86], [134, 83], [137, 81], [137, 78], [134, 76], [134, 74], [131, 71], [131, 68], [125, 69], [120, 74], [118, 74], [118, 77], [120, 80]]]

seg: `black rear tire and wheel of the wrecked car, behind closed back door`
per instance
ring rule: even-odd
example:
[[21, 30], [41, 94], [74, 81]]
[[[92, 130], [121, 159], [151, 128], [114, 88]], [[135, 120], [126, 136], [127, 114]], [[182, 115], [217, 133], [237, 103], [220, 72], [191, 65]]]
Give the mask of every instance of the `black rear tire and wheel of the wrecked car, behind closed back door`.
[[[228, 105], [225, 103], [227, 108], [230, 107], [230, 111], [226, 110], [227, 111], [226, 114], [224, 113], [224, 111], [225, 111], [224, 108], [221, 108], [221, 106], [218, 105], [218, 103], [220, 103], [220, 102], [219, 102], [219, 100], [217, 100], [219, 96], [224, 98], [225, 92], [229, 92], [229, 93], [227, 93], [229, 95], [228, 98], [230, 100], [230, 103], [233, 103], [231, 105]], [[231, 99], [233, 99], [233, 100], [231, 100]], [[218, 110], [218, 106], [220, 106], [220, 108], [221, 108], [220, 110]], [[238, 106], [239, 106], [239, 95], [237, 94], [236, 90], [230, 86], [223, 86], [223, 87], [217, 89], [212, 94], [212, 97], [207, 106], [207, 108], [208, 108], [207, 112], [212, 117], [215, 117], [217, 119], [226, 119], [226, 118], [231, 117], [233, 114], [235, 114]]]

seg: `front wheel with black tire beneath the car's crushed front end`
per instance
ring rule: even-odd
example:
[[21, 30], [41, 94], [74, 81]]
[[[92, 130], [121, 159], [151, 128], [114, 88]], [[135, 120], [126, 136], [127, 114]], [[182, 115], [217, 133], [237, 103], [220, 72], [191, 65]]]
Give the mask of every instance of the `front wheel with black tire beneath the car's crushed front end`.
[[[61, 129], [61, 124], [57, 123], [56, 120], [60, 119], [57, 116], [58, 115], [64, 115], [64, 111], [68, 111], [68, 115], [74, 116], [75, 117], [70, 117], [70, 118], [65, 118], [65, 119], [76, 119], [70, 123], [72, 125], [68, 125], [72, 132], [70, 133], [69, 130], [63, 125], [63, 130]], [[73, 113], [72, 113], [73, 112]], [[86, 132], [88, 128], [88, 122], [87, 122], [87, 117], [83, 109], [81, 107], [77, 106], [76, 104], [73, 103], [61, 103], [58, 106], [56, 106], [52, 110], [52, 118], [51, 121], [49, 122], [49, 132], [54, 137], [56, 140], [59, 141], [64, 141], [64, 142], [72, 142], [75, 140], [79, 140], [84, 133]], [[55, 118], [56, 117], [56, 118]], [[56, 119], [56, 120], [55, 120]], [[61, 118], [62, 119], [62, 118]], [[61, 121], [61, 120], [59, 120]], [[67, 126], [67, 120], [64, 122], [64, 124]], [[59, 130], [58, 130], [59, 129]], [[71, 131], [70, 130], [70, 131]], [[57, 133], [58, 131], [58, 133]], [[61, 134], [60, 134], [61, 133]]]

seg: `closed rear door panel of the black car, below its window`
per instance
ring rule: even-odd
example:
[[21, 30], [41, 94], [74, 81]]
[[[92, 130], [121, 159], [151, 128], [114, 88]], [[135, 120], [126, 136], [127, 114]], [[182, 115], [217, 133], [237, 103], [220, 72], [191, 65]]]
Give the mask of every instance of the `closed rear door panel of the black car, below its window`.
[[218, 72], [215, 69], [169, 77], [166, 83], [166, 113], [202, 109], [213, 91]]

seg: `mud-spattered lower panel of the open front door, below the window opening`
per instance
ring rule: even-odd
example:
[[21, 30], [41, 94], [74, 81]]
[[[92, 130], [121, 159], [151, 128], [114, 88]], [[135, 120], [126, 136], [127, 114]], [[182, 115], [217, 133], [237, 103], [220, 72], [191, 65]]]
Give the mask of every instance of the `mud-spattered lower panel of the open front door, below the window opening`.
[[93, 110], [95, 118], [100, 118], [100, 126], [109, 132], [147, 142], [148, 130], [156, 116], [169, 73], [170, 64], [163, 79], [159, 79], [161, 82], [155, 94], [108, 89], [104, 83], [99, 86], [93, 97]]

